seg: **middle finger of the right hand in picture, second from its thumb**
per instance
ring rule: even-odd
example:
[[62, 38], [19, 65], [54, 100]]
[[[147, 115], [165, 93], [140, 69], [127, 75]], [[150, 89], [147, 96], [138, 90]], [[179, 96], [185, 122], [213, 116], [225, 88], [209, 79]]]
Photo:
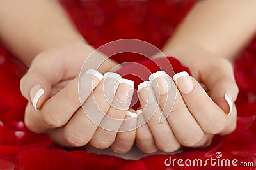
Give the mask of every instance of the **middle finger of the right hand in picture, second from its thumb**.
[[164, 71], [157, 71], [149, 80], [164, 117], [167, 118], [179, 143], [187, 147], [198, 143], [203, 138], [204, 132], [189, 112], [172, 78]]

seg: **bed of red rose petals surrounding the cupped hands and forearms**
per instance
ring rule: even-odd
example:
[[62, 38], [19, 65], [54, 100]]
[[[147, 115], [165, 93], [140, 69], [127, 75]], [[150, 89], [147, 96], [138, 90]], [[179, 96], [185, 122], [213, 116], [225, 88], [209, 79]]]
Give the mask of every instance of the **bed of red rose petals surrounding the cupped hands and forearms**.
[[[115, 39], [134, 38], [158, 48], [172, 35], [175, 26], [195, 1], [76, 1], [61, 4], [84, 38], [95, 48]], [[118, 54], [118, 62], [140, 62], [136, 54]], [[236, 101], [237, 128], [227, 136], [216, 136], [207, 148], [184, 148], [172, 159], [223, 159], [256, 163], [256, 39], [234, 62], [239, 96]], [[166, 167], [166, 155], [151, 155], [140, 160], [124, 160], [96, 155], [83, 148], [65, 150], [45, 134], [34, 134], [24, 125], [26, 99], [19, 81], [27, 67], [0, 45], [0, 169], [217, 169], [217, 167]], [[218, 167], [227, 169], [227, 167]], [[253, 167], [230, 167], [253, 169]]]

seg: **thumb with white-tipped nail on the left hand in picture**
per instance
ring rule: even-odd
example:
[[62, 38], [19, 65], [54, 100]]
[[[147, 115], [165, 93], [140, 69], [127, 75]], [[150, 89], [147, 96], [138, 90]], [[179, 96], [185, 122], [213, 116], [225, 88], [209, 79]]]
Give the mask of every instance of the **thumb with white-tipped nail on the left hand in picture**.
[[[43, 58], [35, 58], [28, 72], [20, 80], [20, 91], [33, 104], [35, 110], [41, 108], [51, 97], [52, 86], [63, 76], [60, 61], [51, 62]], [[51, 63], [55, 63], [56, 66], [51, 66]]]

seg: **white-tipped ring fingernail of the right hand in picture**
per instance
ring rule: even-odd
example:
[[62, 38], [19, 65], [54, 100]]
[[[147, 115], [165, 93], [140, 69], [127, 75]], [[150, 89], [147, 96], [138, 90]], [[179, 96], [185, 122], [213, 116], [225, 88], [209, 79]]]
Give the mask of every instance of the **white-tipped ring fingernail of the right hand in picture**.
[[[144, 88], [147, 87], [147, 88]], [[140, 99], [147, 104], [152, 104], [156, 101], [154, 90], [150, 81], [144, 81], [138, 85], [138, 92], [140, 94]]]

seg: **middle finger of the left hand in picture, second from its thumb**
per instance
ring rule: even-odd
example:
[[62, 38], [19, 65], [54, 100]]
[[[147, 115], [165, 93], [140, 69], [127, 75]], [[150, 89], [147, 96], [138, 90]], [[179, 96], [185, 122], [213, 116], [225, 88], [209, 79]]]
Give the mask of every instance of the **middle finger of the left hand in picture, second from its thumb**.
[[104, 74], [83, 108], [79, 108], [65, 125], [63, 137], [70, 146], [84, 146], [92, 139], [115, 97], [120, 78], [116, 73]]

